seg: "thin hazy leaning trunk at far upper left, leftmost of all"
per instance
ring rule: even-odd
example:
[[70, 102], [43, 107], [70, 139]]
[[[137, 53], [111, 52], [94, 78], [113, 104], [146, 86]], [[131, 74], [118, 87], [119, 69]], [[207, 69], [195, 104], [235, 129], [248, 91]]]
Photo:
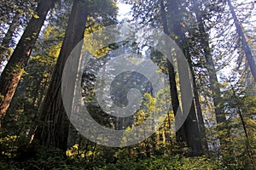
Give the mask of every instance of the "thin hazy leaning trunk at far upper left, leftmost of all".
[[19, 12], [15, 13], [12, 23], [10, 24], [5, 36], [3, 37], [3, 41], [0, 47], [0, 66], [3, 64], [5, 60], [9, 59], [9, 47], [12, 42], [12, 38], [15, 34], [15, 30], [19, 26], [20, 15], [21, 14]]

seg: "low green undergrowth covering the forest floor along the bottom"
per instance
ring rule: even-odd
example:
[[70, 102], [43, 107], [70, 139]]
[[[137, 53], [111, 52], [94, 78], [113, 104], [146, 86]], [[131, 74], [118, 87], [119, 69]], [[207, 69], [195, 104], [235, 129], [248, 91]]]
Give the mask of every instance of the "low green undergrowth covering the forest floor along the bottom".
[[[90, 141], [81, 141], [84, 143], [80, 143], [80, 146], [75, 144], [71, 150], [67, 151], [66, 156], [62, 150], [40, 147], [36, 141], [28, 144], [26, 137], [6, 136], [0, 140], [0, 158], [3, 160], [0, 166], [8, 169], [60, 170], [251, 169], [245, 159], [234, 153], [232, 155], [226, 152], [221, 159], [207, 156], [185, 157], [177, 154], [171, 156], [160, 152], [146, 157], [140, 154], [143, 151], [143, 143], [117, 150], [96, 145]], [[113, 158], [113, 161], [108, 162], [109, 158]]]

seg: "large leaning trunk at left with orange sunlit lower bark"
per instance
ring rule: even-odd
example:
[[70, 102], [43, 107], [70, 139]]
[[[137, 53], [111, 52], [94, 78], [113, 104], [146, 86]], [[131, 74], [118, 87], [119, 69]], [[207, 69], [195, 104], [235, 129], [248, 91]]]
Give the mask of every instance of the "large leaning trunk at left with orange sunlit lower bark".
[[2, 119], [9, 108], [26, 62], [44, 25], [46, 15], [54, 3], [55, 0], [41, 0], [38, 3], [38, 8], [36, 9], [38, 17], [32, 17], [29, 21], [26, 30], [20, 38], [20, 42], [18, 42], [14, 53], [3, 70], [0, 77], [0, 119]]

